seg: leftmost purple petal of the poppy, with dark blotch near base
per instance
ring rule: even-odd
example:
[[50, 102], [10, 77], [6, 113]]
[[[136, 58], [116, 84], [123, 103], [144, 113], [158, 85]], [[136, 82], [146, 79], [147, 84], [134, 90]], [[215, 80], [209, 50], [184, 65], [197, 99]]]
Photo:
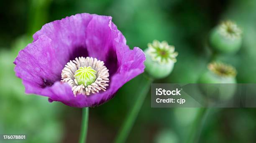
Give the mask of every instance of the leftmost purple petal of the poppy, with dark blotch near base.
[[33, 90], [31, 87], [45, 88], [61, 79], [63, 65], [58, 62], [56, 53], [52, 40], [46, 36], [40, 36], [20, 50], [14, 70], [16, 76], [23, 80], [26, 90]]

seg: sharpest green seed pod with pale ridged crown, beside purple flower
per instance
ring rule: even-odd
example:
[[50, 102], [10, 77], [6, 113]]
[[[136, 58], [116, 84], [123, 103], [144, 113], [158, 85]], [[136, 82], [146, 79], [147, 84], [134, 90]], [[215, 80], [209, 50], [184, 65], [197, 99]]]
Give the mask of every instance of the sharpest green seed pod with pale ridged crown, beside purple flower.
[[177, 52], [174, 52], [174, 46], [168, 45], [166, 41], [159, 42], [154, 40], [148, 43], [148, 48], [144, 51], [146, 55], [145, 70], [153, 78], [165, 78], [168, 76], [177, 61]]

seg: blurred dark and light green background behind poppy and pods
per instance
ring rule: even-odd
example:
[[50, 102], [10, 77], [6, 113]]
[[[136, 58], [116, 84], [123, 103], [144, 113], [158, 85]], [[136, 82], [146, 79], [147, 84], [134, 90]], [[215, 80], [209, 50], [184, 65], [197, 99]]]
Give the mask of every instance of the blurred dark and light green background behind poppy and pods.
[[[256, 0], [8, 0], [0, 11], [0, 134], [26, 134], [27, 143], [79, 138], [81, 109], [25, 95], [13, 71], [18, 51], [32, 42], [33, 33], [76, 13], [111, 15], [130, 48], [145, 49], [154, 39], [174, 45], [179, 52], [174, 71], [155, 83], [196, 83], [211, 54], [208, 33], [221, 20], [233, 20], [243, 30], [241, 50], [218, 58], [236, 67], [238, 83], [256, 83]], [[140, 79], [126, 83], [108, 103], [90, 108], [88, 143], [113, 141]], [[127, 142], [183, 143], [197, 113], [197, 108], [151, 108], [148, 95]], [[253, 108], [213, 108], [199, 142], [255, 143], [255, 133]]]

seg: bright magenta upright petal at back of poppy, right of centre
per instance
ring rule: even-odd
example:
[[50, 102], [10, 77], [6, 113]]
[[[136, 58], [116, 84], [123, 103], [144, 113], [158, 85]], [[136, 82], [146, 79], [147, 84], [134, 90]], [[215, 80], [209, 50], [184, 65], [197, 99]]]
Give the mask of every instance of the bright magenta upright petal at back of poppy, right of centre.
[[98, 60], [106, 61], [110, 50], [115, 51], [115, 39], [119, 43], [126, 43], [125, 38], [111, 22], [112, 17], [94, 16], [86, 29], [86, 45], [89, 55]]

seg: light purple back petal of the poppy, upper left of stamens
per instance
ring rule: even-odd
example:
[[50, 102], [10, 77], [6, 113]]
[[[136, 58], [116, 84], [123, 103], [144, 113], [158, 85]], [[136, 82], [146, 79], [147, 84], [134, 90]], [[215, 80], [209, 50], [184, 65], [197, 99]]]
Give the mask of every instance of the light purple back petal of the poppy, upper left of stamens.
[[41, 35], [49, 37], [53, 41], [52, 48], [57, 51], [56, 56], [61, 57], [58, 60], [62, 65], [79, 56], [87, 57], [85, 31], [94, 16], [82, 13], [47, 23], [33, 35], [34, 41]]

